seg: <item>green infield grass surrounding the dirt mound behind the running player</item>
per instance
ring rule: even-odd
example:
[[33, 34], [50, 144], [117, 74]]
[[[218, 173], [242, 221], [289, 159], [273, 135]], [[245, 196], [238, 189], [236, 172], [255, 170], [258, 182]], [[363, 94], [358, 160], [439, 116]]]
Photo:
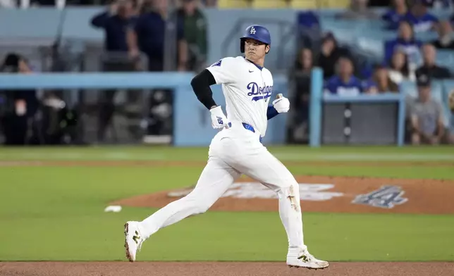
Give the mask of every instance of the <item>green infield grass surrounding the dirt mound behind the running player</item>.
[[[272, 147], [288, 161], [336, 159], [333, 167], [290, 166], [296, 175], [369, 175], [454, 180], [437, 166], [353, 167], [348, 161], [454, 161], [453, 148]], [[300, 157], [298, 157], [300, 156]], [[336, 157], [332, 157], [336, 156]], [[426, 156], [427, 158], [424, 158]], [[0, 149], [2, 161], [185, 160], [205, 161], [207, 149], [99, 147]], [[282, 159], [282, 158], [281, 158]], [[357, 165], [357, 164], [356, 164]], [[1, 167], [0, 261], [122, 260], [123, 224], [155, 209], [104, 213], [116, 199], [195, 184], [191, 167]], [[329, 261], [452, 261], [454, 215], [352, 215], [305, 213], [305, 241]], [[283, 261], [286, 234], [278, 213], [208, 212], [154, 234], [141, 261]]]

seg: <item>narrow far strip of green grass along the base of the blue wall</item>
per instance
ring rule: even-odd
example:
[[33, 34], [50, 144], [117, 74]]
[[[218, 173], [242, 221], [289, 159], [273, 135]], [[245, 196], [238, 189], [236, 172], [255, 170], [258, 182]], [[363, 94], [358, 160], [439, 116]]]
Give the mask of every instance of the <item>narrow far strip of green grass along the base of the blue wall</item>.
[[[269, 146], [282, 161], [454, 161], [453, 146]], [[0, 160], [206, 161], [207, 147], [167, 146], [0, 148]]]

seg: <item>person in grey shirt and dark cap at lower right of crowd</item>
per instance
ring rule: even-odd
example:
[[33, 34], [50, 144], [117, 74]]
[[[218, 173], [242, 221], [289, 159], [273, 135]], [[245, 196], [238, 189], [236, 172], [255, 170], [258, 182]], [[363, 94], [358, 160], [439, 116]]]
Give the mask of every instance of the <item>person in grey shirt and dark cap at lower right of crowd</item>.
[[408, 104], [412, 144], [440, 144], [445, 137], [443, 109], [431, 98], [429, 75], [419, 75], [417, 87], [417, 98]]

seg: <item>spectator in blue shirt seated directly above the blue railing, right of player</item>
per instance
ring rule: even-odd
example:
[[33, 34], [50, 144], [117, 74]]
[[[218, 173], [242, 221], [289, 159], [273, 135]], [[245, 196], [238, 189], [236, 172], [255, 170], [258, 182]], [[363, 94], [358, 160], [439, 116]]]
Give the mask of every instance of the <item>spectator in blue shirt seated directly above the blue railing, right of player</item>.
[[357, 96], [362, 93], [363, 86], [359, 78], [353, 75], [355, 68], [350, 58], [339, 58], [336, 64], [336, 73], [326, 81], [324, 92], [339, 96]]

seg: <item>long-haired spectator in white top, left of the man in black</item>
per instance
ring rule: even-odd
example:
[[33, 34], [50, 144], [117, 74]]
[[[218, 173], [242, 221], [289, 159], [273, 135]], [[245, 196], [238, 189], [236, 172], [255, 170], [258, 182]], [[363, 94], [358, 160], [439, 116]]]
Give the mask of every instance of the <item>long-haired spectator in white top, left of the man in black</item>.
[[415, 71], [410, 69], [407, 55], [403, 50], [394, 51], [389, 62], [388, 75], [396, 84], [400, 84], [403, 80], [416, 80]]

